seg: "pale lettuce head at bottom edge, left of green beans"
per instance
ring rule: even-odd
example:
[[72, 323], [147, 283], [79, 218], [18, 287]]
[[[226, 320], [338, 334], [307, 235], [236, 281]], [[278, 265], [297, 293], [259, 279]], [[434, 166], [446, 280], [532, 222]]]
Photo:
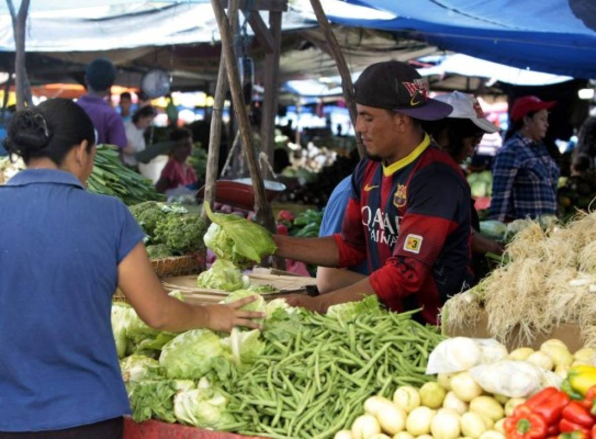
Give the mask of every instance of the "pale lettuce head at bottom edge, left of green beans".
[[234, 416], [226, 412], [227, 404], [224, 394], [211, 387], [182, 391], [174, 397], [174, 414], [181, 424], [223, 429], [234, 423]]

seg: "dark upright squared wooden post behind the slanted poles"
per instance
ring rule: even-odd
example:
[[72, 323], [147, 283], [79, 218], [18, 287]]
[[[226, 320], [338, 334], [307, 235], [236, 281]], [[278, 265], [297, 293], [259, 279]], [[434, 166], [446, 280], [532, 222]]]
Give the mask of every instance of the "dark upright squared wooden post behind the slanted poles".
[[[273, 51], [265, 55], [265, 70], [263, 71], [263, 112], [261, 124], [261, 144], [263, 152], [267, 154], [269, 163], [273, 163], [275, 149], [275, 115], [277, 114], [277, 101], [280, 79], [280, 53], [281, 53], [281, 13], [269, 13], [269, 29], [275, 42]], [[268, 169], [263, 169], [267, 176], [271, 174]]]

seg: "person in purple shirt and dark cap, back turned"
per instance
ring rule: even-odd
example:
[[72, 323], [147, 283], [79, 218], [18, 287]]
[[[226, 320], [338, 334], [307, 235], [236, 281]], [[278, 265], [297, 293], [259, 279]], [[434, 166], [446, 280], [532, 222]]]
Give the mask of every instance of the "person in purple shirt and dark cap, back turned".
[[126, 148], [126, 130], [116, 110], [105, 100], [116, 80], [116, 69], [110, 60], [97, 58], [85, 69], [87, 94], [78, 101], [95, 126], [97, 144]]

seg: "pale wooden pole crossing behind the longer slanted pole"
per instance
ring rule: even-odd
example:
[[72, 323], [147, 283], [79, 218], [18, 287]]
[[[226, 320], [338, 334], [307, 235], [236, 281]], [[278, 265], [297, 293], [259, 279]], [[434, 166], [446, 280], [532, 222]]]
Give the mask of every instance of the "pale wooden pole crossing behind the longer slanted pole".
[[[230, 2], [228, 9], [230, 21], [235, 23], [238, 17], [238, 1]], [[211, 125], [209, 130], [209, 150], [207, 152], [207, 170], [205, 175], [205, 201], [211, 208], [215, 208], [215, 188], [218, 179], [219, 149], [221, 146], [222, 122], [224, 120], [225, 95], [228, 92], [228, 77], [225, 71], [225, 56], [222, 48], [219, 58], [218, 82], [215, 86], [213, 96], [213, 108], [211, 113]], [[207, 220], [207, 213], [203, 209], [202, 216]]]

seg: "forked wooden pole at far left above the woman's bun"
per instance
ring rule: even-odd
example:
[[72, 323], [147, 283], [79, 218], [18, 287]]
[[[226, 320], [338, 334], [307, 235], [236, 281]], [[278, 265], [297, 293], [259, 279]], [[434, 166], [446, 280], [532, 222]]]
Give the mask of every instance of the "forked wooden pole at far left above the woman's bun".
[[10, 16], [13, 20], [14, 34], [14, 72], [15, 92], [17, 94], [17, 110], [23, 110], [26, 106], [32, 107], [31, 89], [27, 79], [25, 67], [25, 25], [27, 23], [27, 11], [29, 11], [30, 0], [23, 0], [16, 13], [13, 0], [6, 0]]

